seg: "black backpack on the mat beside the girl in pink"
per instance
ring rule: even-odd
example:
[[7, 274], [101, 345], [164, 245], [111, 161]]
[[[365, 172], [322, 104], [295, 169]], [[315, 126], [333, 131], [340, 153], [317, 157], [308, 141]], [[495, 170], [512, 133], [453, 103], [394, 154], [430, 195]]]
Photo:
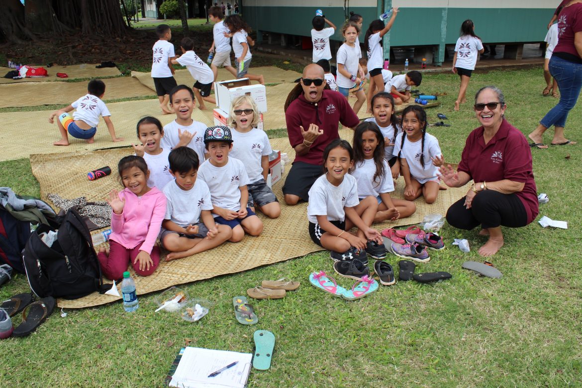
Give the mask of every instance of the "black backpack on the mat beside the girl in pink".
[[75, 207], [66, 213], [55, 242], [48, 247], [40, 234], [50, 230], [55, 229], [38, 226], [22, 253], [30, 289], [38, 297], [77, 299], [111, 288], [103, 283], [91, 234]]

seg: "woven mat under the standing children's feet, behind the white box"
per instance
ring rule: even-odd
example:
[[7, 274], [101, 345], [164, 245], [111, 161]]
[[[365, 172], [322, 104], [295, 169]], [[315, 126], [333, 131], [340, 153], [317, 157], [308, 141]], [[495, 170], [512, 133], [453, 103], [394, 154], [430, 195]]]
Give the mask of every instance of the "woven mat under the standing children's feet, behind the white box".
[[[260, 67], [251, 67], [250, 73], [254, 74], [255, 76], [261, 75], [265, 77], [266, 84], [279, 84], [279, 83], [292, 83], [294, 80], [301, 77], [300, 73], [293, 72], [292, 70], [283, 70], [279, 69], [279, 67], [274, 66], [260, 66]], [[141, 83], [143, 83], [151, 90], [155, 90], [154, 87], [154, 80], [151, 77], [151, 73], [148, 72], [132, 72], [132, 77], [138, 79]], [[223, 69], [222, 67], [218, 69], [218, 76], [217, 80], [232, 80], [236, 77], [232, 75], [232, 73], [228, 72], [228, 70]], [[176, 70], [174, 74], [174, 79], [176, 82], [180, 84], [184, 84], [187, 86], [192, 86], [195, 80], [192, 78], [190, 72], [186, 69]], [[255, 82], [253, 81], [253, 84]]]

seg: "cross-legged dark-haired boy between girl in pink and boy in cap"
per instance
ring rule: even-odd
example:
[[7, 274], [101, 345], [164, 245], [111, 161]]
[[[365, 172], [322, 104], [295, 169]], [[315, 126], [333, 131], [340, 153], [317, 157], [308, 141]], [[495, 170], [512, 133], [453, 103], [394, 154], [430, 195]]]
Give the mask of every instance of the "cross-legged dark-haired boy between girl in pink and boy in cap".
[[170, 251], [166, 261], [188, 257], [218, 247], [230, 239], [232, 230], [212, 218], [207, 184], [197, 179], [198, 155], [191, 148], [178, 147], [168, 156], [175, 180], [164, 187], [168, 199], [162, 223], [162, 245]]

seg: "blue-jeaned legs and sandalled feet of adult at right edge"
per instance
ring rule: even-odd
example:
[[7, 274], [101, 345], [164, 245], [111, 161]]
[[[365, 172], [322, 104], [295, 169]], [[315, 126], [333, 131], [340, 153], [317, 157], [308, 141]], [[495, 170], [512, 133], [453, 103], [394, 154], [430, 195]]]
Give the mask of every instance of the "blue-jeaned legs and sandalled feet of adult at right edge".
[[[546, 113], [537, 128], [528, 135], [534, 144], [544, 143], [544, 132], [552, 125], [554, 126], [552, 144], [569, 142], [564, 136], [564, 126], [568, 113], [576, 105], [580, 88], [582, 88], [582, 64], [552, 56], [549, 61], [549, 71], [558, 82], [560, 101]], [[569, 144], [576, 144], [576, 142], [570, 141]], [[548, 148], [547, 145], [537, 145], [537, 147]]]

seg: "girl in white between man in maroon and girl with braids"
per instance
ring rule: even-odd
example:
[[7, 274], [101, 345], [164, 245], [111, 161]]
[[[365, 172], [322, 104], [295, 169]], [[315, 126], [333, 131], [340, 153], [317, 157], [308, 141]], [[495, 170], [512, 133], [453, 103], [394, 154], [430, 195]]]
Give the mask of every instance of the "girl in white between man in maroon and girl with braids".
[[391, 168], [393, 179], [396, 179], [400, 175], [400, 162], [392, 153], [396, 136], [402, 132], [402, 127], [396, 120], [394, 97], [390, 93], [379, 92], [372, 97], [371, 104], [374, 117], [366, 119], [366, 121], [376, 124], [384, 136], [384, 158]]

